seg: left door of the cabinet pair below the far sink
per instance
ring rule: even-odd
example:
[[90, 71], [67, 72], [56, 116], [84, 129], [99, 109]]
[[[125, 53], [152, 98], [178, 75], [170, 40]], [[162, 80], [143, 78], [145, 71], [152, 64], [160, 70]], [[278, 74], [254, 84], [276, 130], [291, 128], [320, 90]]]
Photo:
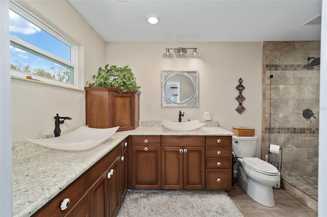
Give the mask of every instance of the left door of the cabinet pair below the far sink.
[[161, 189], [183, 189], [183, 147], [161, 148]]

